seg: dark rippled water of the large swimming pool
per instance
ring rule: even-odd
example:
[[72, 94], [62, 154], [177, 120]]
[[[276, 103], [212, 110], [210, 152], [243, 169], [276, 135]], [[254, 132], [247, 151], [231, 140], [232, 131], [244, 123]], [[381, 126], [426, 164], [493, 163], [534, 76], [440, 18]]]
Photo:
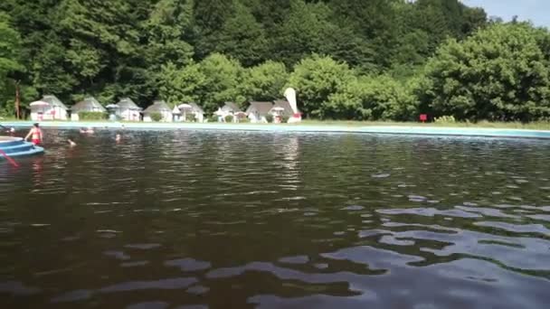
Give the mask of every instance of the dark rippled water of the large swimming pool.
[[550, 141], [46, 135], [0, 163], [2, 308], [550, 304]]

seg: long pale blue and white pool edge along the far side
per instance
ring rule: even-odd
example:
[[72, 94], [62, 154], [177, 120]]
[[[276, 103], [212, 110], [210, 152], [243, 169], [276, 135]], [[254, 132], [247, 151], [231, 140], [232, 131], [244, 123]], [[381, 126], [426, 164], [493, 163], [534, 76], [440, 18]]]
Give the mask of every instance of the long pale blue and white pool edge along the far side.
[[[24, 128], [33, 126], [33, 121], [2, 121], [3, 126]], [[322, 125], [316, 123], [301, 124], [225, 124], [225, 123], [156, 123], [156, 122], [118, 122], [118, 121], [43, 121], [43, 128], [79, 129], [92, 126], [96, 128], [131, 130], [222, 130], [222, 131], [261, 131], [286, 133], [363, 133], [415, 136], [481, 136], [550, 139], [550, 130], [526, 128], [497, 128], [476, 126], [431, 126], [430, 124], [373, 124], [359, 126]]]

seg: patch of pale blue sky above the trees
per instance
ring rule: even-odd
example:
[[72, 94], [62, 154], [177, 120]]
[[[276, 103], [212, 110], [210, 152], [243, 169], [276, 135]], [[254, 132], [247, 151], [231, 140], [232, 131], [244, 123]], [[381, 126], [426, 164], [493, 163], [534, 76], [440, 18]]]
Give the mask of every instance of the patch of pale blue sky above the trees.
[[505, 21], [517, 15], [520, 21], [550, 27], [550, 0], [462, 0], [462, 3], [483, 7], [488, 16], [502, 17]]

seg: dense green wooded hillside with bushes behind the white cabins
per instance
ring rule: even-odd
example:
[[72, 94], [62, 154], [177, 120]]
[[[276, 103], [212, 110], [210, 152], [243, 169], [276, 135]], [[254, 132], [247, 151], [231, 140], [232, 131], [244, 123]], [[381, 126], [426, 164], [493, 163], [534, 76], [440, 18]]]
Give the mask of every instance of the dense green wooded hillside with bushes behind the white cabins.
[[[549, 116], [546, 30], [458, 0], [3, 0], [0, 104], [280, 98], [307, 117]], [[485, 62], [484, 62], [485, 61]]]

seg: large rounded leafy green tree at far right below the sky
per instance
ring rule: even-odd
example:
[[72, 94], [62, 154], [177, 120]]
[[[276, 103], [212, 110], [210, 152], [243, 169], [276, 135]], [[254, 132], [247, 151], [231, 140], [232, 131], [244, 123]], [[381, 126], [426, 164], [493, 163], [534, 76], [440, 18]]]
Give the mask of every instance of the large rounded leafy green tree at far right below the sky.
[[495, 24], [464, 42], [450, 40], [428, 63], [424, 102], [459, 119], [550, 116], [549, 33], [526, 23]]

